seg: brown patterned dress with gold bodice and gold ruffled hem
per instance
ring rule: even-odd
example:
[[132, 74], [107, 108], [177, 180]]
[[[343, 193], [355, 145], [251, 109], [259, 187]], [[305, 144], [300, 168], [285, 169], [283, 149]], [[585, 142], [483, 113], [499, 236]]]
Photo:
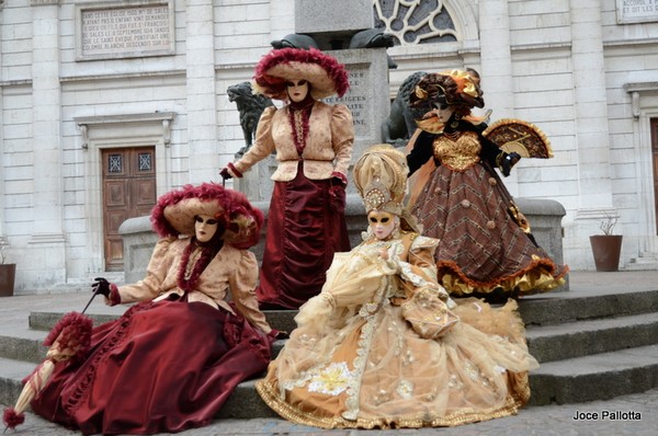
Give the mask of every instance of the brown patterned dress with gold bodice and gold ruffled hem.
[[[439, 134], [435, 167], [409, 209], [423, 234], [441, 242], [434, 253], [439, 283], [456, 297], [523, 296], [564, 284], [568, 272], [536, 244], [525, 217], [483, 157], [475, 131]], [[495, 147], [495, 146], [494, 146]]]

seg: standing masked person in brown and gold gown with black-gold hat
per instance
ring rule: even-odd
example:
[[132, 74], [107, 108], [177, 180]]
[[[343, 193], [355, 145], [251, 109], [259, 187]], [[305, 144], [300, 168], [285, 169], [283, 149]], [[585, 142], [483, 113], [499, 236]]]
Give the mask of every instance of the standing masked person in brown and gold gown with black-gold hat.
[[484, 106], [473, 76], [460, 70], [427, 74], [410, 104], [428, 112], [417, 121], [407, 157], [410, 174], [421, 167], [423, 173], [408, 207], [423, 234], [440, 240], [434, 253], [439, 283], [452, 296], [490, 301], [561, 286], [568, 267], [538, 246], [496, 172], [508, 176], [521, 156], [489, 140], [490, 127], [483, 131], [481, 119], [470, 114]]

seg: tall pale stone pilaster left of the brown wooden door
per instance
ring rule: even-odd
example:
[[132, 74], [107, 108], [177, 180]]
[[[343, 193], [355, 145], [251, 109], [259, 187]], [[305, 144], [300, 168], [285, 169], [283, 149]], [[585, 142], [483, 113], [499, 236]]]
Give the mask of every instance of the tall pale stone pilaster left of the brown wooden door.
[[[32, 89], [34, 137], [34, 219], [32, 239], [19, 269], [35, 268], [39, 277], [66, 282], [63, 232], [59, 83], [59, 2], [32, 1]], [[26, 286], [30, 286], [27, 284]]]

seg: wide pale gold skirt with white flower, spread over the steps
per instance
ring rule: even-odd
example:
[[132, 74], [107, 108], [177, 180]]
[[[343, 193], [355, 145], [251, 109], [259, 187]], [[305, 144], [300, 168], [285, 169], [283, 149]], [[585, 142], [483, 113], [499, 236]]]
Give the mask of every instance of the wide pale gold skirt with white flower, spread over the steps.
[[347, 317], [333, 331], [296, 329], [257, 390], [282, 417], [322, 428], [455, 426], [515, 414], [538, 366], [515, 301], [491, 308], [467, 298], [453, 312], [460, 322], [432, 340], [396, 306]]

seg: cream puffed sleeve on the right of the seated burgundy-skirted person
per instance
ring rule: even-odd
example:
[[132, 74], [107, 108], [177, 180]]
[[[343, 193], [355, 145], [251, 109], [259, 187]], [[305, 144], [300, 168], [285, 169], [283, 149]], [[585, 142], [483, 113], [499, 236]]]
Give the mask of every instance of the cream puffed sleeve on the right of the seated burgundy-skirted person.
[[228, 278], [232, 301], [251, 325], [260, 329], [265, 334], [270, 333], [272, 328], [265, 320], [263, 312], [258, 308], [258, 300], [256, 298], [254, 289], [258, 279], [256, 255], [247, 250], [238, 252], [240, 253], [240, 260]]

